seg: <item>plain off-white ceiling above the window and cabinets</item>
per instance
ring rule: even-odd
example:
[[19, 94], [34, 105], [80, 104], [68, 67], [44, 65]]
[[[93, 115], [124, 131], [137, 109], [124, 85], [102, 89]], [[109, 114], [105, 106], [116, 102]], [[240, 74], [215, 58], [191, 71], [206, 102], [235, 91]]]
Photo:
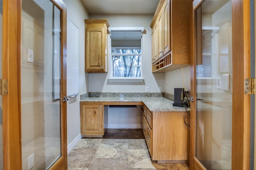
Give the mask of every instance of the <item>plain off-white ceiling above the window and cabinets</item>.
[[159, 0], [81, 0], [88, 14], [151, 14]]

